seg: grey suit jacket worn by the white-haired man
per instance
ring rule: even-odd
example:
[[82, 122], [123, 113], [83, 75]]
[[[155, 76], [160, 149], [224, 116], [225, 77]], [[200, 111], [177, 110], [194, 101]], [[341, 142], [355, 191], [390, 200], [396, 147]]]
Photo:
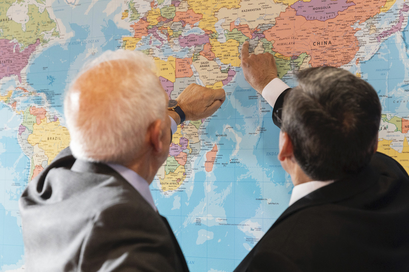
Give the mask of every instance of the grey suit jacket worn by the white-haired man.
[[188, 271], [167, 220], [116, 171], [69, 148], [19, 204], [28, 271]]

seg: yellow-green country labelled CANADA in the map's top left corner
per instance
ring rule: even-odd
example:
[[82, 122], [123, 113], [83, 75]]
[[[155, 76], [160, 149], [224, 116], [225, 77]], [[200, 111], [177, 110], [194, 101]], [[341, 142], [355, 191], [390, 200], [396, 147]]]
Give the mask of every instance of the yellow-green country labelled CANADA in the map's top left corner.
[[26, 23], [26, 31], [23, 31], [21, 23], [6, 18], [6, 6], [7, 2], [6, 4], [0, 4], [0, 39], [16, 39], [19, 43], [22, 43], [22, 48], [25, 48], [30, 44], [34, 44], [37, 39], [40, 39], [42, 44], [47, 42], [44, 40], [43, 32], [54, 30], [53, 36], [58, 36], [58, 32], [56, 32], [57, 24], [50, 18], [47, 9], [40, 13], [38, 7], [28, 5], [27, 15], [29, 21]]

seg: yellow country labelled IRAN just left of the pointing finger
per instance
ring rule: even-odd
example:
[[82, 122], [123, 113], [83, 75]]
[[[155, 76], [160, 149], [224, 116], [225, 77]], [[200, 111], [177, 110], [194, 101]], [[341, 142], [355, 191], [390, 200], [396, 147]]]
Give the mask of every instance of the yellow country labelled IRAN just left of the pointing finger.
[[211, 39], [212, 51], [217, 58], [224, 64], [231, 64], [239, 67], [239, 42], [234, 39], [229, 39], [226, 42], [220, 43], [216, 39]]

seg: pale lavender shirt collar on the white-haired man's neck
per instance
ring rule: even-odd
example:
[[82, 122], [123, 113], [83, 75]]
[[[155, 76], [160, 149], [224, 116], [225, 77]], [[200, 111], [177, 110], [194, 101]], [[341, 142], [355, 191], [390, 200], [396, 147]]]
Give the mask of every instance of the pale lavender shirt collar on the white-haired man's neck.
[[153, 210], [157, 211], [152, 194], [149, 190], [149, 184], [146, 180], [139, 176], [137, 172], [123, 165], [113, 163], [107, 163], [107, 165], [117, 171], [119, 175], [121, 175], [127, 182], [129, 182], [129, 184], [132, 185], [132, 187], [142, 195], [146, 202], [148, 202], [149, 205], [152, 206]]

